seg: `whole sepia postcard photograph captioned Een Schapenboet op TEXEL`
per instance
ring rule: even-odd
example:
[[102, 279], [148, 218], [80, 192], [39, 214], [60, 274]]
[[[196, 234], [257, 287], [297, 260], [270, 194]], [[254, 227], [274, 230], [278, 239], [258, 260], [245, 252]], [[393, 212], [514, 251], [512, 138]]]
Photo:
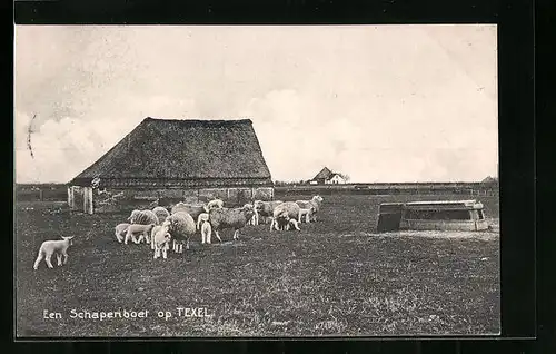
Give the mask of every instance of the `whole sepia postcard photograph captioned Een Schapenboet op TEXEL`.
[[27, 337], [500, 333], [496, 24], [14, 27]]

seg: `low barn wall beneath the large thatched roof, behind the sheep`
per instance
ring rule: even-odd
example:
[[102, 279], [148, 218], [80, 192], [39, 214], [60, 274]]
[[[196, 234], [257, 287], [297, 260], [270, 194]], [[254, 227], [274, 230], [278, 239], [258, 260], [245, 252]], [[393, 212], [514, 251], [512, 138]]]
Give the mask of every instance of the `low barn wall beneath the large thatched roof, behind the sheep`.
[[[81, 193], [82, 195], [82, 193]], [[205, 204], [218, 198], [227, 207], [241, 206], [252, 200], [272, 200], [272, 187], [232, 187], [232, 188], [202, 188], [202, 189], [121, 189], [101, 188], [93, 189], [95, 213], [130, 212], [132, 209], [152, 208], [160, 205], [170, 208], [183, 201], [190, 204]], [[81, 201], [81, 209], [82, 204]], [[78, 204], [79, 205], [79, 204]]]

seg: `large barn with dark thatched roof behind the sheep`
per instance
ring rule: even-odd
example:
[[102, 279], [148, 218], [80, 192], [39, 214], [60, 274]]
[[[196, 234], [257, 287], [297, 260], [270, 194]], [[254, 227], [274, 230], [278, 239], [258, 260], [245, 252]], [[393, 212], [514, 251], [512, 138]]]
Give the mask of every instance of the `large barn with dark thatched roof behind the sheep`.
[[[87, 199], [92, 198], [93, 189], [97, 195], [132, 194], [143, 199], [170, 195], [187, 199], [193, 190], [200, 199], [203, 189], [224, 188], [226, 193], [217, 190], [212, 197], [229, 198], [230, 188], [232, 195], [247, 188], [254, 198], [255, 188], [271, 188], [272, 181], [250, 119], [148, 117], [69, 186], [83, 189], [83, 209], [92, 213], [93, 203]], [[71, 199], [75, 196], [68, 201], [76, 204]]]

